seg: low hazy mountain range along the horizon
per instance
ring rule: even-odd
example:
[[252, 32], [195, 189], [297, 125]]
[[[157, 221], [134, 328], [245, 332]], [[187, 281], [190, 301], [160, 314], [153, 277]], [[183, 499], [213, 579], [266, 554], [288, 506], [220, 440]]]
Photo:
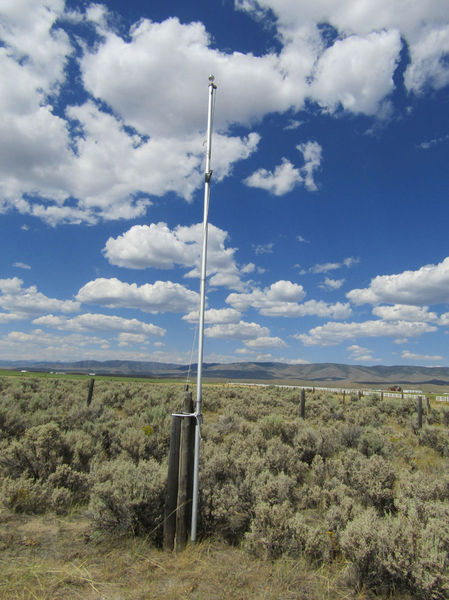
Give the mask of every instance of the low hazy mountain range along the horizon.
[[[0, 368], [179, 379], [185, 378], [189, 369], [188, 365], [129, 360], [104, 362], [95, 360], [79, 362], [0, 361]], [[196, 365], [192, 365], [191, 373], [192, 376], [196, 374]], [[317, 386], [329, 383], [333, 383], [335, 386], [350, 383], [358, 385], [393, 383], [399, 385], [449, 385], [449, 367], [365, 367], [335, 363], [290, 365], [276, 362], [207, 363], [203, 366], [203, 375], [205, 378], [215, 380], [310, 383]]]

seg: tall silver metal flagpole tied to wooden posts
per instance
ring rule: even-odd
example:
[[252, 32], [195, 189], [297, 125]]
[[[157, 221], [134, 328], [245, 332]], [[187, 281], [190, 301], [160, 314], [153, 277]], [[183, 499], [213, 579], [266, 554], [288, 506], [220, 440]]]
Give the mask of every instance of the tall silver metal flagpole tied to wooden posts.
[[212, 170], [210, 168], [210, 155], [212, 145], [212, 108], [214, 93], [217, 86], [214, 76], [209, 75], [209, 107], [207, 116], [207, 146], [206, 146], [206, 171], [204, 176], [204, 218], [203, 218], [203, 250], [201, 257], [201, 287], [200, 287], [200, 318], [198, 328], [198, 375], [196, 385], [196, 406], [194, 416], [195, 427], [195, 454], [193, 462], [193, 495], [192, 495], [192, 527], [190, 540], [196, 542], [196, 528], [198, 515], [198, 488], [200, 471], [200, 441], [201, 441], [201, 407], [202, 407], [202, 378], [203, 378], [203, 338], [204, 338], [204, 307], [206, 303], [206, 264], [207, 264], [207, 220], [209, 214], [210, 180]]

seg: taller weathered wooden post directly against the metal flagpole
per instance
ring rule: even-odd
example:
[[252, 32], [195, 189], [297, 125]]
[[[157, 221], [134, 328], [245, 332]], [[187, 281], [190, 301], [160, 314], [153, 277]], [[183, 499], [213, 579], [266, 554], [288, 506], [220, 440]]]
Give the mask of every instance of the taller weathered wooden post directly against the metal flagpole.
[[[184, 392], [183, 412], [186, 414], [193, 413], [192, 392]], [[181, 420], [178, 499], [176, 509], [176, 551], [183, 550], [187, 543], [192, 513], [192, 439], [194, 435], [195, 421], [192, 417], [181, 417]]]

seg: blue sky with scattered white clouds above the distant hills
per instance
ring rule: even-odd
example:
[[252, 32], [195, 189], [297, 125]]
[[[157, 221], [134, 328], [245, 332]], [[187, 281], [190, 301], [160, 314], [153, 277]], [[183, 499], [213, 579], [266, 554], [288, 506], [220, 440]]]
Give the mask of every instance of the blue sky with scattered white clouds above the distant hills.
[[447, 0], [2, 0], [0, 360], [447, 366]]

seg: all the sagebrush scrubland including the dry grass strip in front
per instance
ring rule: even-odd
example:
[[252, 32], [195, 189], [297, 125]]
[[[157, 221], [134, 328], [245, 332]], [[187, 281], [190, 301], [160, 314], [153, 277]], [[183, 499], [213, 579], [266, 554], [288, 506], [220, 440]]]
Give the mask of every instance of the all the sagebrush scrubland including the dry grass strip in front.
[[413, 400], [310, 392], [303, 420], [297, 392], [206, 385], [201, 541], [176, 555], [182, 386], [87, 389], [0, 377], [1, 598], [449, 597], [447, 408], [418, 429]]

